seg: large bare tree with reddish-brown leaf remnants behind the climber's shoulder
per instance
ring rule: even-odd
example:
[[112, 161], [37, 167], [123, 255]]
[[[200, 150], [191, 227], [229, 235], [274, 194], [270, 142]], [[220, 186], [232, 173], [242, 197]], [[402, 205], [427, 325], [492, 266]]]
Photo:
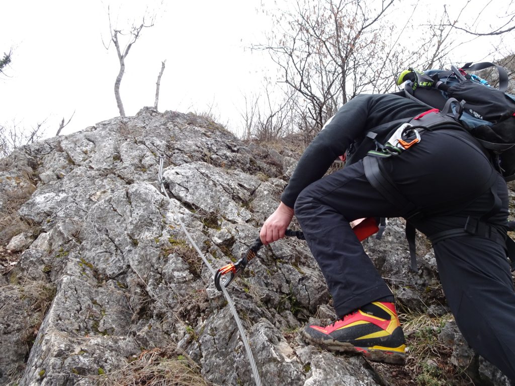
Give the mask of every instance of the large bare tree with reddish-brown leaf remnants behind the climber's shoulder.
[[[297, 94], [304, 122], [319, 131], [337, 108], [370, 89], [387, 60], [397, 61], [393, 26], [384, 17], [392, 0], [368, 7], [361, 0], [297, 0], [294, 8], [273, 14], [274, 24], [284, 25], [279, 35], [254, 46], [264, 49], [278, 65], [281, 81]], [[386, 52], [386, 55], [385, 55]], [[377, 63], [381, 65], [374, 68]], [[390, 87], [393, 77], [388, 78]]]

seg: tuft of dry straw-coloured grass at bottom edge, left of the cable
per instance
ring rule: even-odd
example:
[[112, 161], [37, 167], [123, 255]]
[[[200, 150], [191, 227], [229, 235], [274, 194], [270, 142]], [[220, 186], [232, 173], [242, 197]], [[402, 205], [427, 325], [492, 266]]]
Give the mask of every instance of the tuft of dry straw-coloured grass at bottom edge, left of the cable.
[[123, 369], [93, 378], [99, 385], [213, 386], [200, 375], [200, 367], [175, 346], [144, 351]]

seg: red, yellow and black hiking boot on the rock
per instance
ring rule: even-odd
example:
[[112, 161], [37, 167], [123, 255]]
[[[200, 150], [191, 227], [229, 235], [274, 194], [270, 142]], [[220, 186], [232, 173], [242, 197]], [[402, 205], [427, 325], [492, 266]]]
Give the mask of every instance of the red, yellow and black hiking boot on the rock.
[[358, 352], [376, 362], [403, 364], [406, 348], [393, 303], [372, 302], [327, 327], [306, 326], [307, 342], [333, 351]]

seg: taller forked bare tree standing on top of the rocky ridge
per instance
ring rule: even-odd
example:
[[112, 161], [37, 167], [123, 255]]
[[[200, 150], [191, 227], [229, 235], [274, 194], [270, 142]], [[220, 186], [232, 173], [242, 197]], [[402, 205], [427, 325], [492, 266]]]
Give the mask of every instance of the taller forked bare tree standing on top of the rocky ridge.
[[[120, 97], [120, 83], [122, 82], [122, 77], [125, 73], [125, 58], [127, 58], [127, 55], [129, 55], [129, 51], [132, 47], [132, 45], [138, 40], [141, 36], [141, 31], [143, 28], [149, 28], [152, 27], [155, 20], [155, 15], [152, 15], [150, 17], [150, 22], [147, 24], [145, 22], [145, 16], [142, 18], [141, 24], [132, 24], [130, 27], [129, 32], [124, 32], [120, 29], [117, 29], [116, 27], [113, 27], [111, 23], [111, 13], [109, 11], [108, 7], [108, 17], [109, 17], [109, 31], [111, 34], [111, 42], [114, 44], [114, 47], [116, 48], [116, 54], [118, 55], [118, 61], [120, 63], [120, 69], [118, 71], [118, 75], [116, 76], [116, 80], [114, 82], [114, 97], [116, 98], [116, 105], [118, 106], [118, 111], [120, 113], [120, 116], [125, 116], [125, 110], [124, 105], [122, 103], [122, 98]], [[120, 36], [128, 36], [127, 44], [125, 45], [125, 48], [120, 47]], [[106, 46], [104, 44], [104, 47], [106, 49], [109, 49], [109, 45]]]

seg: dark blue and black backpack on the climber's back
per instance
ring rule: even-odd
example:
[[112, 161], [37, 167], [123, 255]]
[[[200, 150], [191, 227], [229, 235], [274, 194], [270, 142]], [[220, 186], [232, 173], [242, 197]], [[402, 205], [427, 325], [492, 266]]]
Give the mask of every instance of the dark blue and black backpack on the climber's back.
[[[495, 67], [499, 72], [499, 88], [466, 71]], [[418, 72], [409, 68], [401, 73], [398, 85], [404, 90], [398, 95], [439, 110], [449, 106], [455, 119], [490, 152], [494, 166], [506, 181], [515, 180], [515, 96], [506, 93], [508, 75], [499, 65], [482, 62], [467, 63], [450, 70], [430, 69]]]

